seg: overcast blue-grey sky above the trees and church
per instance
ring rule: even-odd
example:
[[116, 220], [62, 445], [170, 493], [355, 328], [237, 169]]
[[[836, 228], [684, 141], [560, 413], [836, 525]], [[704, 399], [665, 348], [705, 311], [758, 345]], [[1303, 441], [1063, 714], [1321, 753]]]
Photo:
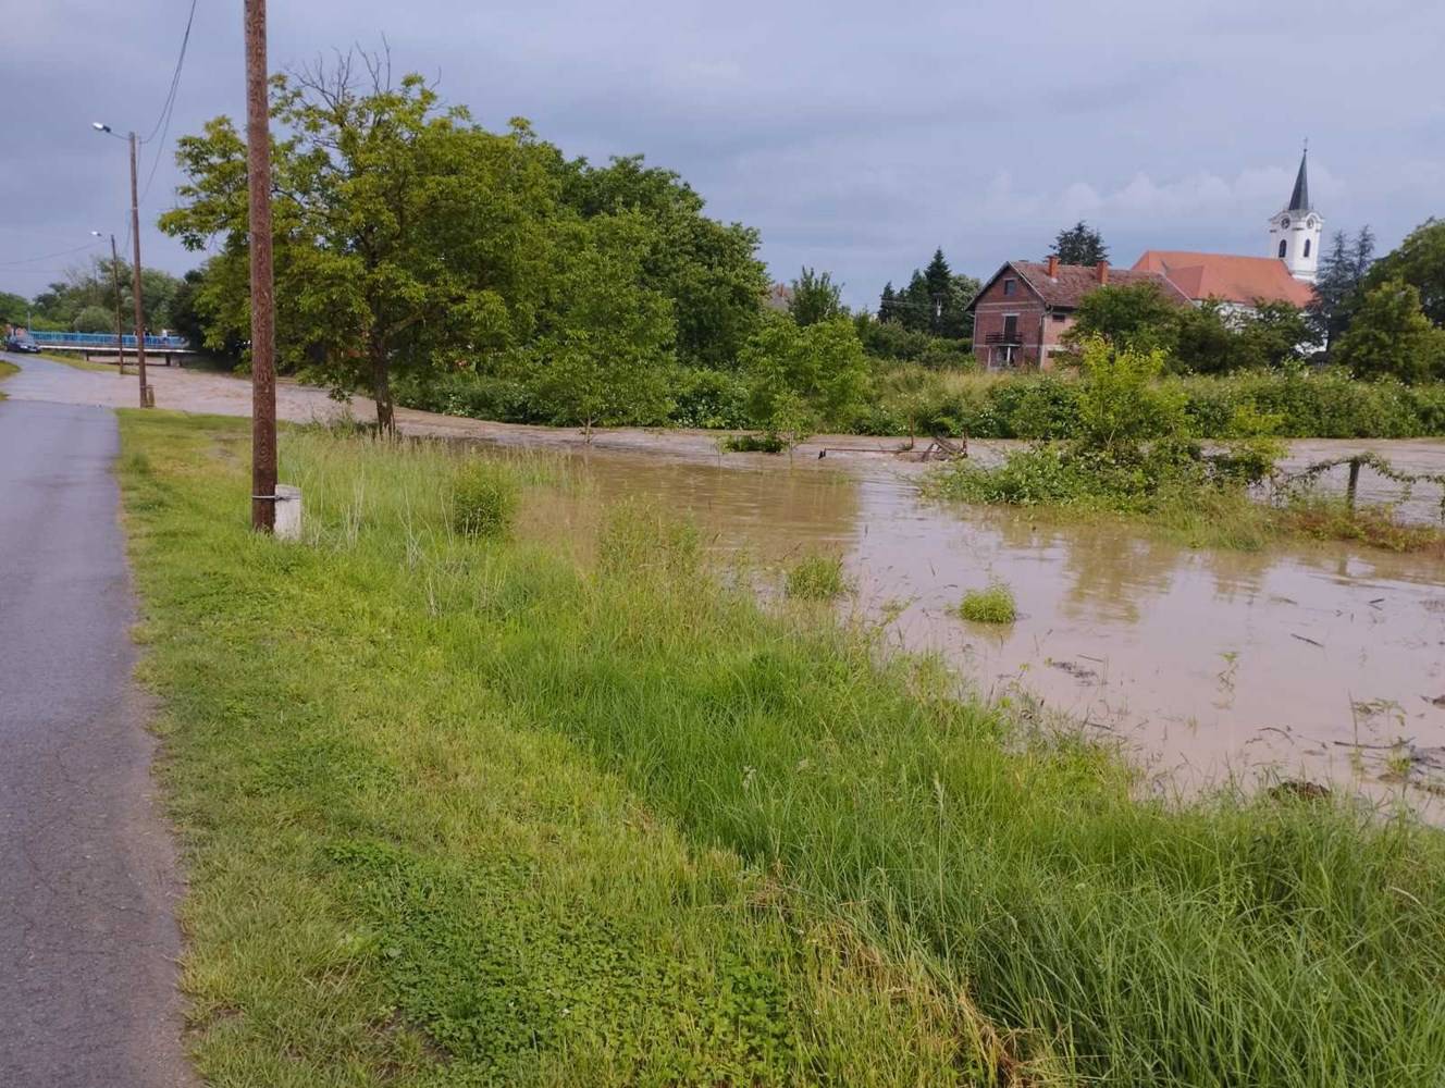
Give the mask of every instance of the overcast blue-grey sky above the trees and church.
[[[188, 4], [0, 0], [0, 289], [33, 295], [87, 254], [26, 259], [123, 236], [126, 147], [90, 123], [152, 129]], [[488, 127], [520, 114], [568, 155], [642, 152], [760, 228], [775, 277], [828, 269], [854, 305], [935, 246], [983, 276], [1078, 218], [1116, 263], [1263, 256], [1306, 136], [1327, 231], [1368, 223], [1383, 251], [1445, 214], [1435, 1], [270, 0], [270, 20], [273, 69], [384, 36], [393, 68]], [[197, 263], [155, 228], [173, 142], [241, 117], [241, 79], [240, 0], [199, 0], [147, 264]]]

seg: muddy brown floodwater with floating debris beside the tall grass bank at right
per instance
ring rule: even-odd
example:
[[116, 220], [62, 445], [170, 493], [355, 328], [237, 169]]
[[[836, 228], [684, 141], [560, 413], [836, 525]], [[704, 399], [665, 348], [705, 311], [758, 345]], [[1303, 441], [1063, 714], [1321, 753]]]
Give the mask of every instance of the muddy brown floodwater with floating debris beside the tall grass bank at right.
[[[1118, 738], [1156, 787], [1303, 779], [1445, 813], [1445, 564], [1342, 545], [1189, 551], [1117, 526], [938, 506], [892, 465], [749, 470], [578, 457], [600, 497], [689, 513], [718, 549], [844, 556], [844, 605], [890, 614], [984, 695], [1038, 699]], [[728, 458], [736, 464], [737, 458]], [[1007, 582], [1009, 627], [952, 614]]]

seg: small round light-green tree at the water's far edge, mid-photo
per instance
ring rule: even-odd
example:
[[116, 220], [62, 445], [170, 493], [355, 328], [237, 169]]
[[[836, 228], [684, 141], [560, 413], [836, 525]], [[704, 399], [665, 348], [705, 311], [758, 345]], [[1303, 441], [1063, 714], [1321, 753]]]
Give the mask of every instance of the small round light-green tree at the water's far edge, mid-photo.
[[769, 433], [801, 441], [819, 426], [847, 426], [864, 407], [868, 361], [844, 316], [801, 328], [763, 322], [743, 351], [749, 415]]

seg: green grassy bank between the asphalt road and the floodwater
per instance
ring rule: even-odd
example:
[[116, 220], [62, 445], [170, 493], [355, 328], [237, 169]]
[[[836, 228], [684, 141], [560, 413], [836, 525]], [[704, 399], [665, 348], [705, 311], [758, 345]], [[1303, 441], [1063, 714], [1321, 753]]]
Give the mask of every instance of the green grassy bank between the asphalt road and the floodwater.
[[[769, 613], [656, 511], [579, 564], [503, 467], [124, 413], [217, 1082], [1399, 1085], [1445, 1065], [1445, 845], [1342, 802], [1140, 802], [936, 668]], [[575, 501], [587, 501], [575, 498]]]

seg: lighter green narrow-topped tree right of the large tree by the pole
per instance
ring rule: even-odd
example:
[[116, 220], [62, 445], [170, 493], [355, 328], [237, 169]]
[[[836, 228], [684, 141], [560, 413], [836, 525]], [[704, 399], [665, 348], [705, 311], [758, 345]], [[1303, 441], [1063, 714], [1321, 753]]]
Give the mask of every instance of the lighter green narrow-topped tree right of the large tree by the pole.
[[634, 211], [571, 227], [556, 305], [525, 353], [553, 422], [579, 422], [588, 441], [598, 423], [663, 423], [672, 410], [672, 302], [642, 286], [652, 240]]

